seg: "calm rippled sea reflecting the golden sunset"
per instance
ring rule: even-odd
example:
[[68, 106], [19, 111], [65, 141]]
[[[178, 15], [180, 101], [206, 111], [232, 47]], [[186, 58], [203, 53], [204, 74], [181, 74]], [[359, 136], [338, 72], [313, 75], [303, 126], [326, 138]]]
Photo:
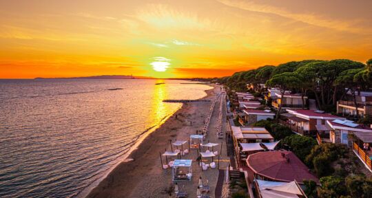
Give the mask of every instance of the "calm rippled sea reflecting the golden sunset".
[[181, 106], [163, 100], [210, 89], [180, 83], [0, 80], [0, 197], [78, 195]]

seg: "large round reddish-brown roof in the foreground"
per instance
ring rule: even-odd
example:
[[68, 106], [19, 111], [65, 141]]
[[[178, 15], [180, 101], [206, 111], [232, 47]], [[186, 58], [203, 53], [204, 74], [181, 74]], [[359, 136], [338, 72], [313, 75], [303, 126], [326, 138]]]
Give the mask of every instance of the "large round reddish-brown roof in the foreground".
[[304, 179], [311, 179], [319, 184], [319, 179], [291, 151], [254, 153], [248, 156], [247, 164], [254, 173], [274, 181], [289, 182], [296, 179], [302, 184]]

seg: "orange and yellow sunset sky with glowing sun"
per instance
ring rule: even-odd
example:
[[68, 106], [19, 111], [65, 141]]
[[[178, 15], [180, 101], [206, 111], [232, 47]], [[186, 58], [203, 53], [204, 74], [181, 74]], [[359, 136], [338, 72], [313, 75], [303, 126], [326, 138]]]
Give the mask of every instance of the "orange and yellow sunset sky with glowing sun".
[[229, 76], [372, 58], [370, 0], [0, 0], [0, 78]]

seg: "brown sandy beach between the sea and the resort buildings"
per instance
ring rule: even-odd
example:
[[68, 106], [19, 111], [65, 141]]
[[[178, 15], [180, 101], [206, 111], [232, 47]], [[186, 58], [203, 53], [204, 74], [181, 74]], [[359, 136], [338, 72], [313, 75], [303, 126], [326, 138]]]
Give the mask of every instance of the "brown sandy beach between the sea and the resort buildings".
[[[206, 91], [207, 96], [203, 99], [210, 101], [220, 93], [220, 87], [214, 86], [213, 89]], [[225, 105], [225, 101], [223, 102]], [[195, 134], [196, 130], [203, 128], [203, 120], [209, 113], [211, 102], [186, 102], [183, 107], [172, 115], [156, 131], [149, 134], [141, 145], [130, 154], [130, 162], [122, 162], [112, 172], [107, 175], [101, 183], [94, 188], [87, 197], [169, 197], [169, 188], [172, 182], [172, 169], [163, 170], [159, 153], [163, 153], [165, 148], [170, 151], [169, 140], [189, 140], [190, 134]], [[220, 155], [219, 169], [226, 168], [229, 164], [227, 157], [225, 139], [218, 139], [216, 135], [216, 123], [219, 113], [220, 100], [216, 102], [214, 112], [209, 124], [209, 133], [205, 142], [214, 142], [219, 145], [214, 149]], [[223, 106], [225, 109], [225, 106]], [[177, 116], [176, 116], [177, 115]], [[225, 112], [223, 114], [225, 116]], [[224, 120], [224, 119], [223, 119]], [[225, 129], [225, 120], [223, 126]], [[222, 144], [222, 146], [221, 146]], [[188, 146], [187, 146], [188, 147]], [[220, 151], [220, 149], [223, 149]], [[209, 195], [215, 197], [215, 187], [218, 180], [218, 168], [202, 171], [196, 162], [197, 154], [194, 149], [182, 159], [193, 159], [192, 181], [178, 182], [180, 190], [189, 194], [188, 197], [196, 197], [198, 178], [203, 177], [204, 182], [208, 182], [211, 187]], [[217, 157], [214, 162], [217, 163]], [[211, 162], [208, 159], [207, 162]], [[174, 197], [174, 193], [172, 193]]]

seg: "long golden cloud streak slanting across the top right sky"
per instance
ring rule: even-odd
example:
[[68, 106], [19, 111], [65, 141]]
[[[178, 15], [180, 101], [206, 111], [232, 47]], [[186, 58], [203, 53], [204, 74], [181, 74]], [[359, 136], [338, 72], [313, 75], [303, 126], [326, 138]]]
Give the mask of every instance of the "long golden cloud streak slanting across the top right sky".
[[[292, 19], [294, 21], [300, 21], [302, 23], [307, 23], [309, 25], [314, 25], [314, 26], [318, 26], [321, 28], [330, 28], [333, 30], [338, 30], [342, 32], [351, 32], [351, 33], [357, 33], [357, 34], [370, 34], [372, 32], [370, 28], [356, 27], [355, 23], [358, 23], [358, 21], [345, 21], [345, 20], [340, 21], [337, 19], [327, 19], [326, 17], [322, 17], [319, 14], [307, 14], [307, 13], [298, 14], [298, 13], [289, 12], [288, 10], [285, 10], [282, 8], [277, 8], [272, 5], [259, 4], [259, 3], [254, 3], [251, 1], [240, 1], [240, 0], [238, 1], [217, 0], [217, 1], [225, 5], [234, 7], [234, 8], [247, 10], [251, 12], [276, 14], [280, 17], [285, 17], [288, 19]], [[369, 33], [366, 31], [368, 31]]]

